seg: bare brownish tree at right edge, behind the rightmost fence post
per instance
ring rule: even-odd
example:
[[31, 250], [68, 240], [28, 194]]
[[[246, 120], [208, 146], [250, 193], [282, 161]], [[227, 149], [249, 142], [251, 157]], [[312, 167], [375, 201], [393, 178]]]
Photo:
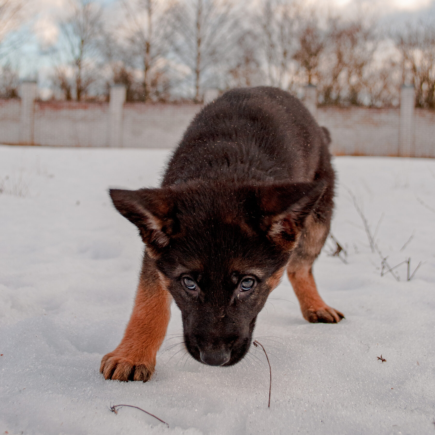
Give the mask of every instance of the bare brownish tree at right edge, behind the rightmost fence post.
[[435, 24], [408, 23], [395, 39], [402, 54], [402, 82], [414, 85], [415, 105], [435, 108]]

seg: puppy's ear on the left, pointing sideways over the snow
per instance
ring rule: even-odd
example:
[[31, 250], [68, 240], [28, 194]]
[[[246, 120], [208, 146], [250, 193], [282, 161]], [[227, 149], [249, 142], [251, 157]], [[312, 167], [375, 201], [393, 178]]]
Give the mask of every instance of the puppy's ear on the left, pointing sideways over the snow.
[[117, 211], [139, 228], [144, 243], [163, 248], [174, 231], [174, 201], [169, 189], [110, 189]]

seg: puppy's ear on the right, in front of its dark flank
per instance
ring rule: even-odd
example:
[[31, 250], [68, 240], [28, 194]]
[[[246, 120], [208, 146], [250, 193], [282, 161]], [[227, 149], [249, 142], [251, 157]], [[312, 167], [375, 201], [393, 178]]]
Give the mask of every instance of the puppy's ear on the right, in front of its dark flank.
[[323, 182], [273, 183], [256, 187], [261, 213], [261, 229], [284, 249], [291, 249], [301, 233], [305, 219], [314, 211], [325, 192]]

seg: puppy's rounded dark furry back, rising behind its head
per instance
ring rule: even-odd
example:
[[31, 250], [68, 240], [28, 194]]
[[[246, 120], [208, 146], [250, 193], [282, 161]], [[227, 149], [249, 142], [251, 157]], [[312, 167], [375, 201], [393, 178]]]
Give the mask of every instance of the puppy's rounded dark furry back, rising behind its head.
[[329, 161], [324, 131], [297, 98], [273, 87], [240, 88], [197, 114], [163, 185], [198, 179], [312, 181], [319, 171], [330, 172]]

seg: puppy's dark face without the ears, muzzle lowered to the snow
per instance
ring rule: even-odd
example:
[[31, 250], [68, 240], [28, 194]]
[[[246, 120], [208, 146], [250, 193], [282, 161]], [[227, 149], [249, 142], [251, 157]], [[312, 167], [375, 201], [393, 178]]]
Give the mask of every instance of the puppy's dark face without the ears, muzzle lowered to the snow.
[[247, 352], [288, 255], [220, 218], [183, 221], [183, 235], [171, 240], [157, 265], [181, 310], [188, 351], [205, 364], [232, 365]]

